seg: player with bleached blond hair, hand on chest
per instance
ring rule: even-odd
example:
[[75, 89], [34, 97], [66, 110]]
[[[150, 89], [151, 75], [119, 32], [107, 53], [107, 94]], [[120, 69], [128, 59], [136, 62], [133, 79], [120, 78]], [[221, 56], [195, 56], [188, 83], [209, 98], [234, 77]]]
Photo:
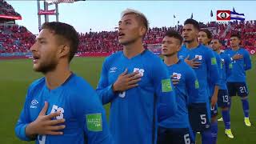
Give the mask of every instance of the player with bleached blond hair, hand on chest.
[[144, 14], [124, 10], [118, 23], [123, 50], [106, 58], [102, 66], [96, 91], [103, 104], [111, 104], [110, 132], [117, 144], [155, 143], [158, 120], [177, 109], [165, 63], [142, 45], [147, 30]]

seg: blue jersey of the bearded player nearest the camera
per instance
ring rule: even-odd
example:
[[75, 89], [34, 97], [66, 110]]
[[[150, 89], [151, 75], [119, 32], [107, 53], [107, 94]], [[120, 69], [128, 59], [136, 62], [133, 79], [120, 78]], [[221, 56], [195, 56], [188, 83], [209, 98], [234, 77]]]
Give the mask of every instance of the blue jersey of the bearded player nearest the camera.
[[98, 95], [82, 78], [71, 74], [61, 86], [49, 90], [46, 78], [33, 82], [27, 92], [22, 114], [15, 126], [18, 138], [31, 141], [26, 137], [26, 126], [38, 118], [38, 114], [48, 102], [46, 114], [60, 111], [54, 119], [65, 118], [66, 127], [62, 135], [38, 135], [37, 144], [111, 144], [112, 138], [106, 122], [106, 114]]

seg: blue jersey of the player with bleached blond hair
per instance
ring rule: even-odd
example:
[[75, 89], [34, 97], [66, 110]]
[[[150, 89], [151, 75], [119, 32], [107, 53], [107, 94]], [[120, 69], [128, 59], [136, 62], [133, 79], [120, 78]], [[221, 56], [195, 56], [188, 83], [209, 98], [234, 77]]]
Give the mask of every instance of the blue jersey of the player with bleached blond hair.
[[[126, 69], [129, 74], [138, 71], [142, 79], [138, 86], [114, 93], [112, 86]], [[116, 144], [155, 143], [158, 119], [177, 110], [166, 65], [149, 50], [133, 58], [126, 58], [122, 51], [106, 58], [97, 93], [103, 104], [111, 104], [110, 132]]]

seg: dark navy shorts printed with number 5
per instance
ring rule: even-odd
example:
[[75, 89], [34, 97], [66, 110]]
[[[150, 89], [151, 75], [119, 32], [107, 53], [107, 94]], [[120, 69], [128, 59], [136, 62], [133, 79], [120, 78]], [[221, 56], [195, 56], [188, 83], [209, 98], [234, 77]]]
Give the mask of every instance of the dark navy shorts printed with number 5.
[[190, 126], [195, 132], [210, 128], [210, 106], [206, 103], [192, 103], [188, 106]]

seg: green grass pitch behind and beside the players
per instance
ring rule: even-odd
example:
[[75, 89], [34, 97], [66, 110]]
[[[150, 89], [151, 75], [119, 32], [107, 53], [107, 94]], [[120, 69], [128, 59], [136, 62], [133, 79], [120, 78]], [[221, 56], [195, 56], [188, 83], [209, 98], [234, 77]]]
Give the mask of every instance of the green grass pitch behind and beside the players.
[[[104, 58], [74, 58], [71, 70], [82, 76], [94, 88], [97, 86]], [[256, 142], [256, 74], [255, 60], [252, 57], [253, 69], [247, 72], [247, 82], [250, 90], [250, 122], [251, 127], [243, 123], [242, 103], [238, 97], [233, 98], [231, 108], [231, 128], [234, 139], [224, 135], [223, 122], [218, 122], [218, 144], [254, 144]], [[27, 87], [42, 74], [32, 70], [29, 59], [0, 60], [0, 143], [18, 144], [21, 142], [14, 134], [14, 126], [25, 101]], [[108, 114], [108, 108], [106, 112]], [[197, 138], [199, 139], [199, 137]], [[34, 143], [34, 142], [30, 142]], [[198, 142], [201, 143], [201, 142]]]

